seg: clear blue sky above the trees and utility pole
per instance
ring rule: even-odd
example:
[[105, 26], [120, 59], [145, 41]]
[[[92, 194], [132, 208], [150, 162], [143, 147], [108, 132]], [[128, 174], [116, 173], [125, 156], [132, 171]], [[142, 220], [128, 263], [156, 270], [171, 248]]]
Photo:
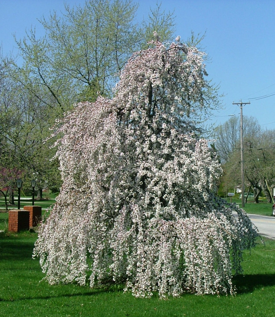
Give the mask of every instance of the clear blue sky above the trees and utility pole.
[[[78, 5], [85, 0], [65, 2]], [[156, 4], [156, 0], [137, 2], [139, 20], [147, 17], [150, 6]], [[31, 26], [36, 26], [39, 34], [43, 29], [37, 18], [48, 17], [50, 10], [63, 9], [63, 0], [0, 0], [3, 53], [16, 51], [13, 34], [22, 38]], [[275, 1], [163, 0], [162, 9], [174, 10], [175, 35], [182, 40], [190, 37], [191, 31], [206, 32], [201, 44], [211, 59], [206, 70], [224, 94], [223, 109], [214, 114], [212, 123], [222, 124], [232, 114], [239, 116], [239, 106], [232, 102], [250, 100], [243, 114], [257, 118], [264, 129], [275, 129]]]

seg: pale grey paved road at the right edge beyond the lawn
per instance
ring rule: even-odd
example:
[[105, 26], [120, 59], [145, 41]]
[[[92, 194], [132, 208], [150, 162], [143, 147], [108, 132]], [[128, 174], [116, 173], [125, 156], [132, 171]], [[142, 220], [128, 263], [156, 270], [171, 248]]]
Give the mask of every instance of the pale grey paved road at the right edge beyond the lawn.
[[[271, 212], [270, 212], [271, 213]], [[275, 240], [275, 217], [248, 214], [261, 236]]]

